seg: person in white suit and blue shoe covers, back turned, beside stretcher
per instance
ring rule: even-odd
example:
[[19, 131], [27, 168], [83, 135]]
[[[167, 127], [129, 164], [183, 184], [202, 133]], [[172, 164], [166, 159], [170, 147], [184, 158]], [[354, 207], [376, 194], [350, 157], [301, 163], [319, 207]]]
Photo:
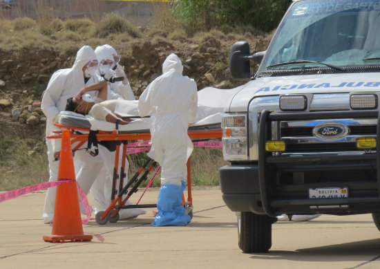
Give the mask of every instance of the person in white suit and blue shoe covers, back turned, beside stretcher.
[[193, 151], [187, 129], [196, 119], [198, 95], [196, 82], [183, 76], [182, 71], [180, 58], [169, 55], [162, 65], [163, 74], [149, 84], [138, 104], [140, 116], [151, 116], [152, 147], [148, 156], [162, 167], [153, 226], [187, 225], [191, 220], [181, 204], [186, 163]]

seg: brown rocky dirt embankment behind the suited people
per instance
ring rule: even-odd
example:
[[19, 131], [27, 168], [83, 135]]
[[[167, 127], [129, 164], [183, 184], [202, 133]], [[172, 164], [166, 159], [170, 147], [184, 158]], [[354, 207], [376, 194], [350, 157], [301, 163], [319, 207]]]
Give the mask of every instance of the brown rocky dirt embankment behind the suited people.
[[[189, 40], [135, 41], [131, 46], [113, 45], [122, 55], [136, 98], [161, 73], [164, 59], [176, 53], [182, 59], [184, 75], [197, 82], [198, 89], [216, 86], [230, 89], [243, 82], [231, 79], [229, 50], [237, 40], [207, 37], [195, 43]], [[251, 37], [251, 52], [265, 50], [267, 40]], [[111, 42], [110, 42], [111, 43]], [[46, 118], [40, 109], [41, 97], [50, 76], [61, 68], [70, 68], [77, 48], [62, 53], [56, 50], [23, 48], [0, 50], [0, 138], [8, 136], [41, 137]]]

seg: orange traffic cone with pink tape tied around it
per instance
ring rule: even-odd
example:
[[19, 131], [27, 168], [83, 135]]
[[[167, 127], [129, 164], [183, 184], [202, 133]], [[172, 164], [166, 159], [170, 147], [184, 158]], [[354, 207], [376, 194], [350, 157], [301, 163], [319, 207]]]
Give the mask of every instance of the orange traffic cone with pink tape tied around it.
[[52, 243], [91, 241], [93, 239], [92, 235], [83, 234], [73, 153], [71, 152], [68, 130], [62, 132], [58, 180], [73, 181], [57, 186], [52, 235], [44, 235], [44, 241]]

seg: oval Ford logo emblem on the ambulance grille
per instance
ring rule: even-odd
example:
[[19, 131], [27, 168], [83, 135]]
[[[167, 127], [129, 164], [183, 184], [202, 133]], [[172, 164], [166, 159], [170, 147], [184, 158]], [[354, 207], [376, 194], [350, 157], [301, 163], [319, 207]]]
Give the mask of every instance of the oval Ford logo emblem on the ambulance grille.
[[316, 125], [313, 135], [321, 140], [336, 140], [344, 138], [350, 133], [350, 129], [340, 122], [325, 122]]

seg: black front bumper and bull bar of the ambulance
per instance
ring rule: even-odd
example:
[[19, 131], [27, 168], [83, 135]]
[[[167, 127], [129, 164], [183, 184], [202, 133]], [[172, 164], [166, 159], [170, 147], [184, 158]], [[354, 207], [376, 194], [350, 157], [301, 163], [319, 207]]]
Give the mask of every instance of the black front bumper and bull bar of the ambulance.
[[[312, 154], [272, 156], [265, 151], [272, 122], [334, 118], [378, 118], [378, 111], [334, 113], [269, 113], [262, 111], [258, 163], [220, 169], [223, 200], [232, 211], [256, 214], [361, 214], [380, 212], [380, 156], [368, 154]], [[377, 152], [380, 152], [377, 124]], [[302, 174], [302, 181], [294, 180]], [[348, 198], [310, 199], [310, 188], [348, 187]]]

